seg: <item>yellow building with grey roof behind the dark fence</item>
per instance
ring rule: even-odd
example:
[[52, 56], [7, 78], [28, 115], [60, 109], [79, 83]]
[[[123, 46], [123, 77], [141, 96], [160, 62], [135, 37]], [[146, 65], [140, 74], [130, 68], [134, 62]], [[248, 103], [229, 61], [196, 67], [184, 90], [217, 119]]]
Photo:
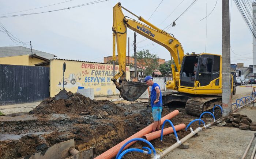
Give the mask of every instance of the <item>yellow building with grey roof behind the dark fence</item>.
[[42, 63], [56, 57], [53, 54], [26, 47], [0, 47], [0, 64], [30, 65]]

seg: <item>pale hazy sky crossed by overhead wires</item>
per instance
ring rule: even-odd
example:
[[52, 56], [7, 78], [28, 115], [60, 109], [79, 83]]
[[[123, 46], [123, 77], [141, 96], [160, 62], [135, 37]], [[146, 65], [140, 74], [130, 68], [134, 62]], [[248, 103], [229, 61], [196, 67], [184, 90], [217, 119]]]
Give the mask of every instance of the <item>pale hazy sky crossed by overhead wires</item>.
[[[0, 16], [11, 12], [18, 13], [6, 15], [51, 11], [89, 3], [94, 0], [70, 0], [61, 3], [64, 1], [68, 0], [0, 0]], [[193, 0], [119, 1], [122, 6], [136, 15], [142, 16], [144, 19], [150, 18], [148, 21], [161, 29], [177, 19], [193, 2]], [[19, 40], [23, 42], [31, 41], [33, 49], [52, 53], [60, 59], [103, 62], [104, 56], [112, 56], [112, 8], [119, 1], [109, 0], [56, 12], [0, 18], [0, 23]], [[216, 1], [217, 4], [214, 8]], [[61, 4], [52, 5], [56, 3]], [[46, 5], [51, 6], [44, 7]], [[28, 9], [33, 10], [19, 12]], [[207, 16], [207, 19], [203, 19], [206, 17], [206, 12], [208, 15], [211, 11], [212, 13]], [[125, 16], [138, 20], [124, 10], [123, 13]], [[231, 63], [244, 63], [244, 66], [251, 65], [252, 34], [232, 0], [230, 0], [230, 13]], [[180, 41], [184, 53], [207, 52], [221, 55], [222, 0], [197, 0], [175, 23], [175, 27], [170, 27], [165, 31], [172, 33]], [[133, 46], [131, 43], [134, 40], [134, 32], [128, 29], [127, 37], [130, 37], [130, 55], [132, 55]], [[148, 49], [151, 53], [157, 54], [159, 58], [166, 61], [170, 60], [169, 51], [161, 45], [139, 34], [136, 36], [136, 41], [137, 51]], [[15, 44], [6, 34], [0, 32], [0, 47], [23, 46], [22, 44]], [[30, 46], [27, 45], [27, 47]]]

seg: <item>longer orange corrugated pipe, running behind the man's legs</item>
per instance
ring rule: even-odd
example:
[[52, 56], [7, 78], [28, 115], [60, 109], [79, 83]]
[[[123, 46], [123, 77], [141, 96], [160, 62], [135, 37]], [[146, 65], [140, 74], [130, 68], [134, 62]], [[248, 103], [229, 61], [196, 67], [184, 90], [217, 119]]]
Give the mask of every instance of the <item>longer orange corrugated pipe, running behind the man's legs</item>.
[[[166, 119], [172, 119], [174, 116], [178, 115], [179, 111], [178, 110], [174, 110], [173, 112], [167, 114], [166, 116], [164, 116], [161, 120], [161, 124], [163, 124], [163, 122]], [[111, 159], [114, 156], [117, 155], [118, 151], [120, 150], [120, 148], [129, 140], [134, 139], [134, 138], [142, 138], [143, 135], [146, 135], [148, 133], [150, 133], [153, 129], [153, 124], [150, 124], [149, 126], [145, 127], [144, 129], [140, 130], [139, 132], [137, 132], [136, 134], [130, 136], [129, 138], [125, 139], [124, 141], [120, 142], [119, 144], [117, 144], [116, 146], [110, 148], [109, 150], [103, 152], [101, 155], [97, 156], [95, 159]], [[136, 142], [136, 141], [135, 141]], [[125, 150], [127, 147], [131, 146], [133, 143], [135, 142], [131, 142], [129, 143], [123, 150]]]

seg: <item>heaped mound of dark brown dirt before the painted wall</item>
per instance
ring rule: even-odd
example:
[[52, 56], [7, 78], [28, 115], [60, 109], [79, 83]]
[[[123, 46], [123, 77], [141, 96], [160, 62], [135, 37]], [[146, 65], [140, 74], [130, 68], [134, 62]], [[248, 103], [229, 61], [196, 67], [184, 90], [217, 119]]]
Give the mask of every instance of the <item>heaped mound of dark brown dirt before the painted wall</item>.
[[[61, 98], [59, 96], [61, 94]], [[118, 114], [120, 107], [109, 100], [91, 100], [79, 93], [60, 91], [54, 98], [46, 98], [30, 114], [80, 114], [80, 115], [113, 115]]]

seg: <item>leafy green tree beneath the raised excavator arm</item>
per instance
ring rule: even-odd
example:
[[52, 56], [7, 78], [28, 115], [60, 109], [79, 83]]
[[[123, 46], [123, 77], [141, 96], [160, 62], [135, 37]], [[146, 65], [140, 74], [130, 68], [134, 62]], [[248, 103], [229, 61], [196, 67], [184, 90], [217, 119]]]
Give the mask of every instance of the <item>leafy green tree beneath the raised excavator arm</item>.
[[[152, 73], [158, 69], [158, 56], [157, 54], [151, 54], [149, 50], [141, 50], [136, 53], [137, 55], [137, 70], [143, 72], [143, 75], [152, 75]], [[134, 58], [134, 55], [132, 56]], [[134, 64], [130, 64], [130, 67], [134, 67]]]

